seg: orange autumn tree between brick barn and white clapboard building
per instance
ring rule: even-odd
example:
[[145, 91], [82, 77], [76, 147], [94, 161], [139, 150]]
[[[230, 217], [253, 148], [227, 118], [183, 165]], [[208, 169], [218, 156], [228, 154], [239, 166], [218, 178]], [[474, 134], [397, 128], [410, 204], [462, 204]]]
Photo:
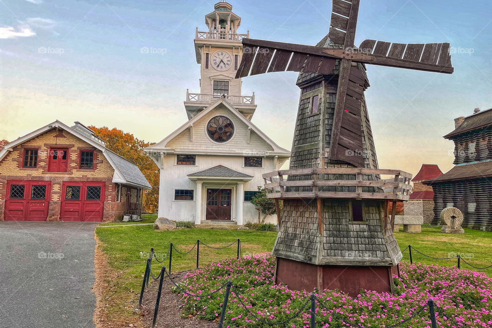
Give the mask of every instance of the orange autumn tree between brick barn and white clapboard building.
[[106, 141], [106, 148], [114, 151], [120, 156], [134, 162], [145, 175], [152, 186], [151, 190], [144, 190], [142, 207], [144, 212], [154, 213], [157, 211], [159, 201], [159, 168], [154, 161], [145, 154], [144, 148], [154, 143], [146, 142], [136, 138], [131, 133], [126, 133], [116, 128], [96, 128], [90, 126], [94, 134]]

